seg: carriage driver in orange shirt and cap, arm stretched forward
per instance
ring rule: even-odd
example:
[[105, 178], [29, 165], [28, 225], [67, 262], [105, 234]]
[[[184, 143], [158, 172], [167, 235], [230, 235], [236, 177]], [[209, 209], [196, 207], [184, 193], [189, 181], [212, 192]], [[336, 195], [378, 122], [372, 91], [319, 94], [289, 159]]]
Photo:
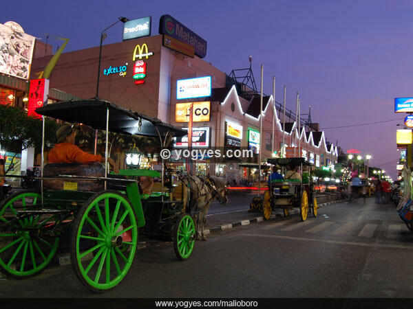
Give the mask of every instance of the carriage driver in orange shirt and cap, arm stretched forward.
[[[105, 163], [105, 157], [101, 155], [91, 155], [81, 150], [74, 144], [76, 130], [73, 126], [65, 124], [56, 132], [56, 142], [54, 148], [48, 155], [49, 163], [82, 163], [90, 164], [94, 162]], [[107, 158], [107, 162], [113, 166], [114, 172], [117, 173], [116, 163], [113, 159]]]

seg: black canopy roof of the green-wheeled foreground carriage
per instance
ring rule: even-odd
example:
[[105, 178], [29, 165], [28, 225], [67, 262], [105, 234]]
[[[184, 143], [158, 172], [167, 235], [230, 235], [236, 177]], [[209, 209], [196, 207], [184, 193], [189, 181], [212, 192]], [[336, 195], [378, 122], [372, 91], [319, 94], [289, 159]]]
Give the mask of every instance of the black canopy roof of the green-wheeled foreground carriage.
[[106, 130], [106, 108], [109, 108], [109, 131], [127, 135], [145, 135], [157, 137], [168, 132], [172, 136], [187, 135], [188, 131], [182, 130], [171, 124], [165, 124], [160, 119], [148, 117], [141, 113], [129, 111], [105, 100], [70, 100], [47, 104], [36, 108], [36, 113], [61, 119], [70, 123], [81, 123], [92, 128]]

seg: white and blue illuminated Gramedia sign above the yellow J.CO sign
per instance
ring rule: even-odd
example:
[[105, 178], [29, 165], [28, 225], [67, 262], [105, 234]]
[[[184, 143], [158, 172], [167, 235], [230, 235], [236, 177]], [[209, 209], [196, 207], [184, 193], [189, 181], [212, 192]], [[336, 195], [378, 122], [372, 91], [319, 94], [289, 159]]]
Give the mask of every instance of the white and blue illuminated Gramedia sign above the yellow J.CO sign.
[[211, 76], [189, 78], [176, 82], [176, 98], [202, 98], [211, 95]]

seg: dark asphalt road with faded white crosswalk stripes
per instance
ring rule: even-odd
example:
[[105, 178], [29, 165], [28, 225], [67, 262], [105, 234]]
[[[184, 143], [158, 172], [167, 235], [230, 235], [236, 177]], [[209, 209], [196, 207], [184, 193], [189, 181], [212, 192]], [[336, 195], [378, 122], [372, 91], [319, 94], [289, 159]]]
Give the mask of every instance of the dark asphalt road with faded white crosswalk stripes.
[[[245, 202], [246, 203], [246, 202]], [[248, 199], [249, 203], [249, 199]], [[413, 234], [393, 205], [334, 204], [211, 234], [191, 258], [169, 242], [141, 249], [115, 290], [89, 292], [71, 266], [0, 280], [0, 297], [411, 297]]]

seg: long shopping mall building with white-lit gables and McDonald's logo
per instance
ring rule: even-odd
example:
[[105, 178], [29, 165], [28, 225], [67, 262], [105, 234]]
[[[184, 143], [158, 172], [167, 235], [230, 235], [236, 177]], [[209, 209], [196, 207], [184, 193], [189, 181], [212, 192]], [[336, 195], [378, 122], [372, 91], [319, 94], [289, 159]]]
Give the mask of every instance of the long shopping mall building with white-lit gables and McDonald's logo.
[[[189, 107], [193, 106], [194, 149], [245, 148], [255, 153], [252, 159], [197, 161], [200, 174], [220, 174], [236, 181], [248, 178], [255, 172], [257, 153], [261, 152], [262, 162], [279, 157], [283, 140], [287, 156], [298, 155], [292, 146], [299, 145], [301, 155], [317, 167], [334, 168], [337, 146], [326, 142], [317, 124], [301, 121], [297, 128], [291, 112], [283, 131], [283, 111], [272, 95], [262, 98], [260, 134], [260, 94], [200, 58], [206, 52], [206, 42], [194, 48], [165, 34], [103, 45], [98, 98], [183, 128], [189, 126]], [[33, 58], [31, 78], [43, 71], [51, 57], [47, 53]], [[50, 88], [70, 93], [72, 98], [96, 98], [98, 62], [99, 47], [61, 54], [50, 76]], [[185, 138], [175, 141], [176, 148], [187, 145]], [[183, 160], [174, 164], [185, 166]]]

